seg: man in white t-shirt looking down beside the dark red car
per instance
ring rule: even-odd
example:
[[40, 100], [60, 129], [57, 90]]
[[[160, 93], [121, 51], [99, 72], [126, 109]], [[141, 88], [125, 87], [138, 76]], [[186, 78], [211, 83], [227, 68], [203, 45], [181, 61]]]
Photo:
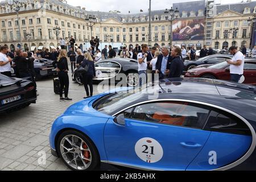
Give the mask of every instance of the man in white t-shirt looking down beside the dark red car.
[[230, 64], [230, 77], [231, 81], [239, 82], [240, 78], [243, 76], [243, 67], [245, 65], [245, 56], [243, 53], [237, 50], [237, 47], [232, 46], [229, 48], [231, 55], [234, 55], [232, 60], [228, 60]]

